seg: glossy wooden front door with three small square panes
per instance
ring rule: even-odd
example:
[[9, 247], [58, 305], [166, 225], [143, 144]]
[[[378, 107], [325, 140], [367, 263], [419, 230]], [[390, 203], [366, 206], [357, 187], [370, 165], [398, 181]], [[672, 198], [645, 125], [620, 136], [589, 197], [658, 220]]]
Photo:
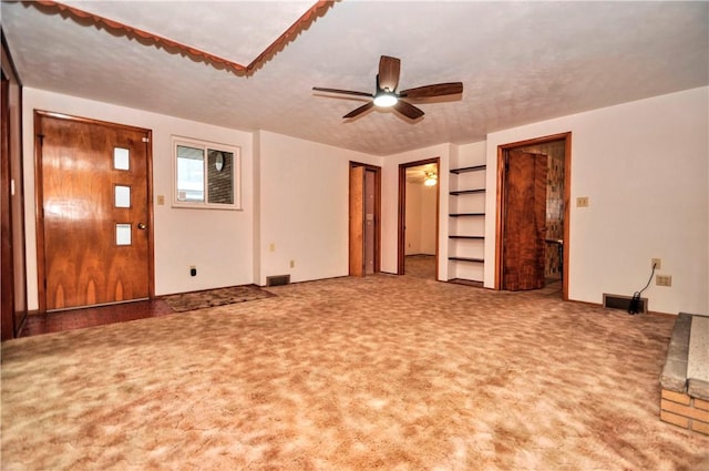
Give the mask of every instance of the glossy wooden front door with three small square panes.
[[151, 132], [35, 117], [44, 310], [150, 297]]

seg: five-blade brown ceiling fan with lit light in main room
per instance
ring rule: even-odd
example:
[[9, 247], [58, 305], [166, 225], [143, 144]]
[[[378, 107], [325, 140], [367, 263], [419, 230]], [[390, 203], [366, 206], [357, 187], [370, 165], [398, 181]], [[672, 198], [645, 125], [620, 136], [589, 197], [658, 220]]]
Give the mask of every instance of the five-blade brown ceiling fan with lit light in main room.
[[382, 55], [379, 59], [379, 73], [377, 74], [377, 91], [374, 94], [366, 92], [356, 92], [351, 90], [323, 89], [314, 86], [317, 92], [339, 93], [342, 95], [368, 96], [372, 101], [362, 106], [350, 111], [343, 119], [359, 116], [373, 106], [393, 107], [404, 116], [415, 120], [423, 116], [423, 111], [411, 103], [402, 100], [428, 99], [433, 96], [455, 95], [463, 93], [462, 82], [436, 83], [433, 85], [423, 85], [415, 89], [408, 89], [397, 92], [399, 85], [399, 72], [401, 70], [401, 61], [397, 58]]

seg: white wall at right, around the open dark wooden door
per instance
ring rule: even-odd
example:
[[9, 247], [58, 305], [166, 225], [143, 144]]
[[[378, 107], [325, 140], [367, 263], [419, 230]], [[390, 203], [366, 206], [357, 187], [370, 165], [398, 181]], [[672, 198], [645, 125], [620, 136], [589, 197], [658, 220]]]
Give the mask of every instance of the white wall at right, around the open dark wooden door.
[[[544, 121], [487, 136], [487, 188], [496, 192], [501, 144], [571, 131], [569, 298], [633, 295], [650, 275], [671, 287], [644, 293], [653, 311], [709, 311], [709, 89], [701, 88]], [[492, 192], [492, 193], [490, 193]], [[588, 207], [575, 207], [588, 196]], [[495, 199], [486, 201], [495, 214]], [[486, 221], [494, 259], [494, 217]], [[493, 286], [494, 264], [485, 265]]]

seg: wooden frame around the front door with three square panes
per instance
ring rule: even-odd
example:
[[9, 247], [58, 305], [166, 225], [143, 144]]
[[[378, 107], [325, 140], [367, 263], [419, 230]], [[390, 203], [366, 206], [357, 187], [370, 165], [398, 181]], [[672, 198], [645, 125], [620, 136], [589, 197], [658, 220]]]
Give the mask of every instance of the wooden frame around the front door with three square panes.
[[[60, 120], [69, 120], [78, 123], [95, 124], [101, 126], [117, 127], [130, 131], [138, 131], [147, 134], [147, 150], [145, 153], [145, 184], [147, 186], [147, 293], [148, 298], [155, 298], [155, 264], [154, 264], [154, 231], [153, 231], [153, 131], [144, 127], [130, 126], [127, 124], [112, 123], [109, 121], [94, 120], [90, 117], [73, 116], [70, 114], [56, 113], [52, 111], [34, 110], [34, 207], [35, 207], [35, 231], [37, 231], [37, 291], [38, 311], [47, 313], [47, 259], [44, 254], [44, 192], [42, 181], [42, 135], [38, 133], [40, 121], [43, 116]], [[125, 303], [130, 303], [126, 300]], [[120, 301], [122, 303], [122, 301]]]

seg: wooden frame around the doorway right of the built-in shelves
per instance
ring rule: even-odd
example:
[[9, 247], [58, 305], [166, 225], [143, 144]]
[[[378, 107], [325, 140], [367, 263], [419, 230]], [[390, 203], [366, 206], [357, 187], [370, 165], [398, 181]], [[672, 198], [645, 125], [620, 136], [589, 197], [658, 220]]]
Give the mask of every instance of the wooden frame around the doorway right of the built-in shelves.
[[495, 289], [502, 289], [503, 277], [503, 243], [504, 243], [504, 214], [505, 214], [505, 185], [506, 173], [504, 165], [505, 154], [510, 151], [531, 145], [546, 144], [553, 141], [564, 141], [564, 246], [562, 264], [562, 297], [568, 300], [568, 267], [569, 260], [569, 228], [571, 228], [571, 194], [572, 194], [572, 132], [534, 137], [525, 141], [502, 144], [497, 146], [497, 212], [495, 215]]

